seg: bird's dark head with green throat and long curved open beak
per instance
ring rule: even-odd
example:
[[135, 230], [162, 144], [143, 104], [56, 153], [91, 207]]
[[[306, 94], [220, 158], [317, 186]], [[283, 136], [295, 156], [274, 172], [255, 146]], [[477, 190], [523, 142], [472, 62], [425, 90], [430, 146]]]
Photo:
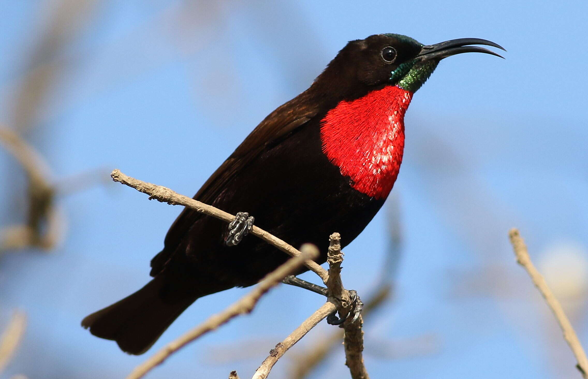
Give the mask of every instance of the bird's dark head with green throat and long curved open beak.
[[[340, 88], [340, 83], [344, 80], [352, 92], [369, 91], [381, 85], [396, 85], [415, 92], [429, 78], [439, 61], [447, 56], [463, 52], [500, 56], [489, 49], [472, 45], [488, 45], [504, 50], [494, 42], [479, 38], [459, 38], [435, 45], [423, 45], [400, 34], [371, 35], [365, 39], [350, 41], [317, 81], [338, 82]], [[328, 86], [333, 88], [332, 85]], [[348, 92], [345, 95], [350, 94]]]

